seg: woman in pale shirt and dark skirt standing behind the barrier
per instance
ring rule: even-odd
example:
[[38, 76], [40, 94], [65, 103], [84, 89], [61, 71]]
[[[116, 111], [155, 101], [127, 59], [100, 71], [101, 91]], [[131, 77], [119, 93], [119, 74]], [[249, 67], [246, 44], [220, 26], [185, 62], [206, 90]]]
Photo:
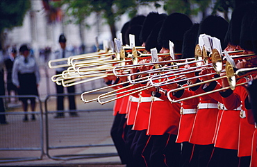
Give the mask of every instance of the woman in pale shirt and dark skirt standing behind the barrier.
[[[26, 44], [19, 48], [21, 55], [15, 59], [13, 64], [13, 84], [18, 89], [19, 95], [35, 95], [38, 96], [38, 84], [40, 82], [40, 71], [35, 58], [29, 53]], [[35, 98], [19, 98], [22, 101], [24, 112], [28, 111], [28, 100], [31, 100], [31, 110], [35, 111]], [[35, 121], [35, 114], [32, 114], [31, 119]], [[25, 114], [23, 121], [28, 121], [28, 116]]]

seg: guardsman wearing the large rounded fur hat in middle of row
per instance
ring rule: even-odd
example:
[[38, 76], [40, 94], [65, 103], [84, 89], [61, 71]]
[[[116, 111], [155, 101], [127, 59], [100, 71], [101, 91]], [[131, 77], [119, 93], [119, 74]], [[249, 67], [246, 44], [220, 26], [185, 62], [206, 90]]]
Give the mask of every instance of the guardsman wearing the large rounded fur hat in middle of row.
[[[175, 52], [181, 53], [183, 35], [191, 26], [192, 21], [186, 15], [176, 12], [168, 15], [160, 28], [158, 35], [159, 45], [162, 48], [169, 49], [169, 41], [172, 41]], [[165, 37], [160, 35], [165, 35]], [[168, 58], [170, 59], [170, 57]], [[161, 88], [167, 89], [167, 87]], [[158, 89], [153, 90], [158, 92]], [[181, 105], [179, 103], [170, 103], [167, 98], [166, 100], [159, 100], [159, 96], [156, 93], [153, 95], [147, 130], [147, 134], [151, 135], [153, 143], [150, 163], [152, 166], [179, 166], [181, 143], [176, 143], [175, 141], [179, 130]]]

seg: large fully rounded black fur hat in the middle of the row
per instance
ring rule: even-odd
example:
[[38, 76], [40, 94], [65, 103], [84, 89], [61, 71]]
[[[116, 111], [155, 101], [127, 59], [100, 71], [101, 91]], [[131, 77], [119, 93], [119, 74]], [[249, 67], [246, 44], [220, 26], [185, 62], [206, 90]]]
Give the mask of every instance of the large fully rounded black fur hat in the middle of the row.
[[169, 40], [174, 43], [176, 53], [181, 53], [183, 35], [192, 26], [192, 21], [187, 15], [174, 12], [168, 15], [163, 22], [158, 35], [158, 44], [169, 49]]

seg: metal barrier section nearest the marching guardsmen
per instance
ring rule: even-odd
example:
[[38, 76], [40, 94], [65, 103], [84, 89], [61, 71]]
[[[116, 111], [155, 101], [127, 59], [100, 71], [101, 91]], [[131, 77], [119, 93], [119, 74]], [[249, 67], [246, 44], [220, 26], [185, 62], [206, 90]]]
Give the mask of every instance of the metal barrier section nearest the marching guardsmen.
[[[48, 101], [50, 98], [68, 95], [76, 96], [81, 94], [51, 94], [44, 101], [46, 155], [56, 160], [117, 156], [116, 151], [92, 153], [95, 151], [88, 150], [90, 148], [114, 146], [113, 141], [110, 139], [113, 109], [49, 111]], [[58, 112], [64, 112], [66, 115], [69, 112], [76, 112], [78, 116], [54, 118], [53, 115]], [[69, 149], [75, 149], [76, 151], [67, 151]], [[76, 152], [76, 154], [72, 154], [71, 152]]]

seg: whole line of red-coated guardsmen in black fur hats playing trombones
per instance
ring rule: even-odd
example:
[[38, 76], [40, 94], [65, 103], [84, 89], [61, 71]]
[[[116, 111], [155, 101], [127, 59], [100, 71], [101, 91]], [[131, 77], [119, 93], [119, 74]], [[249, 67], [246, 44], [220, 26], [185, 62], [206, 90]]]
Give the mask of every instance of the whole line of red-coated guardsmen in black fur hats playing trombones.
[[[174, 43], [176, 59], [194, 58], [194, 48], [200, 34], [220, 39], [226, 51], [244, 50], [249, 54], [257, 51], [257, 10], [253, 4], [240, 6], [233, 11], [228, 23], [222, 17], [210, 15], [200, 24], [193, 24], [181, 13], [171, 15], [150, 12], [147, 17], [135, 17], [124, 24], [122, 34], [126, 44], [128, 34], [135, 35], [137, 46], [147, 51], [156, 48], [159, 53], [169, 53], [169, 40]], [[143, 21], [142, 21], [143, 19]], [[128, 44], [128, 43], [127, 43]], [[159, 58], [160, 61], [168, 58]], [[140, 60], [140, 64], [150, 62]], [[256, 58], [235, 62], [238, 69], [252, 67]], [[170, 64], [162, 64], [169, 66]], [[131, 73], [154, 69], [154, 66], [132, 68]], [[190, 69], [190, 64], [185, 68]], [[203, 76], [212, 69], [202, 68], [199, 73], [185, 74], [187, 78], [199, 76], [187, 82], [179, 82], [135, 93], [115, 101], [115, 120], [111, 136], [117, 152], [126, 166], [257, 166], [256, 80], [247, 88], [242, 85], [217, 91], [198, 98], [171, 103], [167, 92], [177, 87], [192, 85], [217, 77]], [[150, 74], [135, 75], [142, 78]], [[220, 76], [224, 76], [221, 73]], [[249, 78], [238, 80], [247, 82]], [[106, 84], [127, 80], [126, 77], [108, 76]], [[160, 82], [160, 81], [156, 81]], [[142, 87], [142, 82], [129, 89]], [[123, 85], [124, 87], [126, 85]], [[172, 98], [202, 94], [227, 87], [227, 79], [192, 86], [172, 92]], [[119, 87], [117, 87], [119, 88]], [[122, 90], [124, 91], [124, 90]], [[120, 94], [119, 96], [122, 96]], [[251, 96], [251, 98], [249, 98]], [[255, 112], [254, 112], [255, 111]]]

